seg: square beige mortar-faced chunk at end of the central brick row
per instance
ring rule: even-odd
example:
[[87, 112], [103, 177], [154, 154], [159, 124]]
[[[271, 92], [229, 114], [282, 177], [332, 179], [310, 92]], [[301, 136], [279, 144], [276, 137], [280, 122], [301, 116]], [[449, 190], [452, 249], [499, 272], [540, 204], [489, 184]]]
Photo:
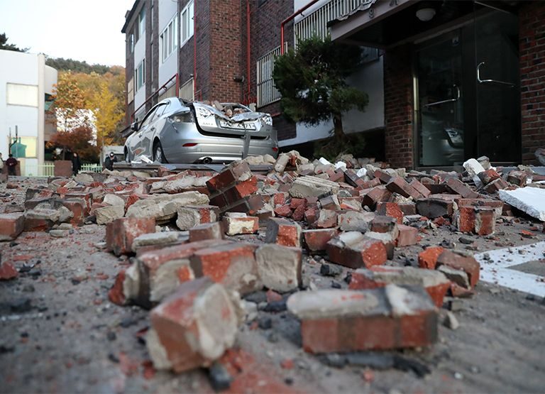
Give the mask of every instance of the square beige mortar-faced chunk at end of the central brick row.
[[287, 292], [302, 283], [302, 251], [275, 244], [265, 244], [255, 251], [259, 277], [265, 287]]

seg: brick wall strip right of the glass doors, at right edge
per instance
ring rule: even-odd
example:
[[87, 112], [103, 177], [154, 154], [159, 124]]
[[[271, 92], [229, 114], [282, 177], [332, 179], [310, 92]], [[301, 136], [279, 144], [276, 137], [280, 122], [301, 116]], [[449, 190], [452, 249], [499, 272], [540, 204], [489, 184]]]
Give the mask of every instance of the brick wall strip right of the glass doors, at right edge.
[[545, 2], [519, 9], [522, 163], [537, 164], [534, 151], [545, 147]]

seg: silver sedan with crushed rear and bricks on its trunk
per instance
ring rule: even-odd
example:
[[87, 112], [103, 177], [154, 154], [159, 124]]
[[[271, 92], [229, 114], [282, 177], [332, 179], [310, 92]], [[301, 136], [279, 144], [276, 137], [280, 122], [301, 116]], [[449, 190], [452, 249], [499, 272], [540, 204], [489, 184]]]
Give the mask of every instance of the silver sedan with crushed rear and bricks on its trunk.
[[269, 114], [242, 104], [188, 102], [164, 99], [131, 125], [125, 142], [125, 160], [143, 155], [160, 163], [226, 163], [241, 158], [246, 133], [248, 155], [276, 158], [278, 143]]

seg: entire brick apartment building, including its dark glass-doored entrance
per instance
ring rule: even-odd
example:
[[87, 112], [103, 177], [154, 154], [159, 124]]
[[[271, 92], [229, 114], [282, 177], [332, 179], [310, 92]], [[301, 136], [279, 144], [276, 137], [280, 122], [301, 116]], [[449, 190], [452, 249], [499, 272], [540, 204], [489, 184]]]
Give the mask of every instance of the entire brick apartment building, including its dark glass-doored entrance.
[[422, 169], [480, 155], [535, 163], [545, 146], [542, 1], [137, 0], [123, 33], [128, 122], [175, 92], [255, 102], [282, 148], [305, 151], [332, 126], [282, 119], [272, 67], [298, 40], [329, 34], [365, 47], [349, 82], [369, 105], [343, 125], [365, 133], [378, 158]]

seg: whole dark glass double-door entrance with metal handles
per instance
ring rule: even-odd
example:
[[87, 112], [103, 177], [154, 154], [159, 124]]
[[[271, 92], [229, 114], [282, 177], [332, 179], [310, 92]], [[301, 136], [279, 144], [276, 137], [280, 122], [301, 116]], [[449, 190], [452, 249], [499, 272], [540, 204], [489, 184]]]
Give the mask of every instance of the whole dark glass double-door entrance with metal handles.
[[417, 165], [519, 162], [518, 45], [517, 16], [480, 8], [417, 49]]

